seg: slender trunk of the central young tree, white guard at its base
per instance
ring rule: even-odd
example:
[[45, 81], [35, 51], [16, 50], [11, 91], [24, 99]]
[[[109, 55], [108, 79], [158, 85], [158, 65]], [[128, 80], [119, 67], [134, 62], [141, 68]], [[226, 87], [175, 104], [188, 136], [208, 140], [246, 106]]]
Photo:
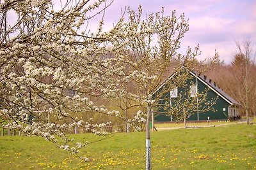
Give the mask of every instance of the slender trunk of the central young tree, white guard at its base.
[[147, 127], [146, 127], [146, 170], [151, 170], [151, 157], [150, 157], [150, 120], [151, 120], [151, 110], [147, 106]]

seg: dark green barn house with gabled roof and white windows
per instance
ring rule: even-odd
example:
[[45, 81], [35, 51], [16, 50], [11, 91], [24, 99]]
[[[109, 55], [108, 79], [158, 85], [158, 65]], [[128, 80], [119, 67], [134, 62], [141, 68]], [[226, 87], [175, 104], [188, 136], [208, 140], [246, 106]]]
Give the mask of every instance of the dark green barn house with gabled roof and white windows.
[[[163, 108], [161, 104], [158, 104], [159, 108], [154, 108], [154, 122], [172, 122], [173, 120], [175, 120], [175, 117], [173, 117], [172, 111], [170, 110], [169, 113], [171, 114], [166, 115], [166, 110], [168, 110], [168, 106], [166, 106], [166, 104], [173, 104], [173, 101], [175, 101], [175, 99], [180, 95], [186, 94], [185, 97], [197, 97], [196, 94], [202, 92], [205, 92], [207, 95], [207, 101], [205, 101], [205, 103], [210, 102], [212, 101], [212, 99], [214, 99], [214, 104], [211, 106], [212, 109], [207, 111], [200, 111], [199, 107], [202, 106], [198, 105], [198, 108], [195, 109], [193, 113], [188, 115], [186, 120], [236, 120], [240, 117], [239, 108], [241, 107], [241, 104], [232, 97], [228, 96], [227, 93], [220, 89], [218, 84], [207, 78], [207, 76], [205, 75], [196, 74], [194, 71], [189, 71], [186, 68], [184, 68], [184, 70], [188, 71], [189, 74], [189, 78], [188, 80], [186, 80], [186, 85], [173, 88], [168, 92], [164, 92], [164, 95], [161, 94], [164, 97], [160, 97], [158, 103], [162, 103], [162, 105], [165, 105], [165, 108]], [[171, 76], [169, 76], [156, 90], [154, 95], [157, 92], [161, 91], [161, 89], [164, 89], [164, 87], [168, 89], [168, 83], [172, 83], [173, 79], [176, 78], [179, 78], [179, 73], [173, 73]], [[184, 87], [187, 87], [188, 90], [186, 91]]]

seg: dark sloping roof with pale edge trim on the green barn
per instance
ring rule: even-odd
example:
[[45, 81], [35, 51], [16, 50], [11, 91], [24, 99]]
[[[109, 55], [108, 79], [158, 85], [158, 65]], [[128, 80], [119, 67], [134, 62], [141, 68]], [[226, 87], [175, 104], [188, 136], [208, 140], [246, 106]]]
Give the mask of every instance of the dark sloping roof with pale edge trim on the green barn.
[[[223, 98], [225, 101], [227, 101], [227, 103], [229, 103], [230, 105], [237, 105], [237, 106], [241, 106], [241, 104], [239, 102], [237, 102], [235, 99], [233, 99], [232, 97], [230, 97], [227, 93], [225, 93], [222, 89], [220, 89], [220, 87], [218, 87], [218, 85], [216, 85], [215, 82], [211, 81], [211, 79], [207, 79], [206, 76], [201, 75], [201, 74], [196, 74], [193, 71], [190, 71], [189, 69], [187, 69], [186, 67], [184, 67], [184, 69], [186, 69], [187, 71], [189, 71], [189, 73], [191, 73], [193, 76], [195, 76], [195, 78], [197, 78], [198, 80], [200, 80], [202, 83], [204, 83], [207, 87], [209, 87], [209, 89], [211, 89], [212, 91], [214, 91], [218, 96], [220, 96], [221, 98]], [[175, 76], [176, 72], [173, 73], [171, 76], [169, 76], [162, 84], [161, 86], [156, 90], [156, 92], [161, 89], [168, 81], [170, 81], [173, 76]]]

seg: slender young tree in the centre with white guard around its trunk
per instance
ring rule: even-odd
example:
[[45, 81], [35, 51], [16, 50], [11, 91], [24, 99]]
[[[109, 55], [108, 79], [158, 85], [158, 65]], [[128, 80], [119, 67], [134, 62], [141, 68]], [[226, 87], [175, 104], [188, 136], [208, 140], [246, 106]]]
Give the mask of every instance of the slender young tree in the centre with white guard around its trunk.
[[[124, 83], [132, 83], [133, 92], [124, 94], [128, 99], [136, 101], [147, 110], [146, 126], [146, 169], [151, 169], [150, 161], [150, 120], [152, 108], [157, 104], [161, 95], [177, 87], [188, 79], [188, 74], [182, 74], [173, 81], [163, 92], [152, 98], [154, 92], [170, 74], [170, 67], [175, 62], [174, 71], [179, 71], [180, 66], [190, 69], [198, 55], [198, 46], [195, 50], [188, 47], [182, 55], [177, 50], [180, 40], [188, 31], [188, 20], [184, 14], [177, 17], [175, 11], [172, 15], [165, 16], [164, 9], [156, 14], [150, 14], [143, 20], [142, 8], [138, 13], [128, 9], [129, 20], [122, 27], [123, 34], [113, 41], [116, 49], [115, 55], [120, 60], [124, 70]], [[120, 48], [121, 46], [121, 48]]]

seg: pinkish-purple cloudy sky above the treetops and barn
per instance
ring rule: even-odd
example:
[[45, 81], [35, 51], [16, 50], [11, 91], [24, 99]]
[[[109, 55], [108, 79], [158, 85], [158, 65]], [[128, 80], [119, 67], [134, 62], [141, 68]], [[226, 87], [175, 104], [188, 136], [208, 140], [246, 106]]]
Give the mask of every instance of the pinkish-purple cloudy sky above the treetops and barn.
[[202, 55], [198, 59], [212, 57], [216, 49], [228, 64], [236, 53], [235, 41], [250, 38], [256, 47], [255, 0], [115, 0], [106, 11], [106, 24], [115, 23], [121, 8], [137, 10], [140, 4], [144, 14], [161, 11], [162, 6], [166, 15], [172, 10], [185, 13], [189, 32], [182, 39], [182, 48], [199, 44]]

